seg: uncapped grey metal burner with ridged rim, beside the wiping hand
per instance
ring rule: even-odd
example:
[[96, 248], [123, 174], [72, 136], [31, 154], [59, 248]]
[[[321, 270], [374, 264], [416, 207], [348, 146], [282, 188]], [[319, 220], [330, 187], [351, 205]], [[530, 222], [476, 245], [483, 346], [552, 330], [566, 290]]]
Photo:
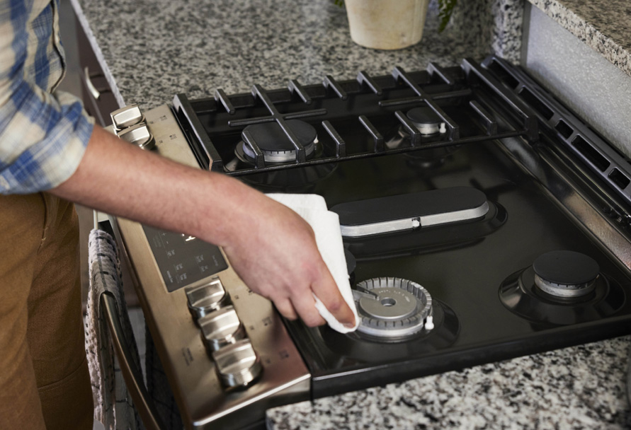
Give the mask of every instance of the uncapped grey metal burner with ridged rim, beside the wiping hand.
[[361, 323], [358, 332], [399, 339], [433, 329], [432, 298], [416, 282], [401, 278], [367, 279], [353, 290]]

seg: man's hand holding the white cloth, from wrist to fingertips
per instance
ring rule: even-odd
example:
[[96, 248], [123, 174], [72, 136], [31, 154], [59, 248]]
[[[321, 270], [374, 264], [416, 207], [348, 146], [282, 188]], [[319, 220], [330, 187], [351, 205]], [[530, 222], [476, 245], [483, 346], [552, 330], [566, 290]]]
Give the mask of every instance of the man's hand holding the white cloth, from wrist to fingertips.
[[309, 224], [294, 211], [262, 194], [234, 214], [237, 231], [223, 245], [232, 267], [258, 294], [274, 302], [285, 318], [297, 316], [313, 327], [324, 324], [313, 294], [334, 317], [354, 327], [355, 316], [317, 249]]

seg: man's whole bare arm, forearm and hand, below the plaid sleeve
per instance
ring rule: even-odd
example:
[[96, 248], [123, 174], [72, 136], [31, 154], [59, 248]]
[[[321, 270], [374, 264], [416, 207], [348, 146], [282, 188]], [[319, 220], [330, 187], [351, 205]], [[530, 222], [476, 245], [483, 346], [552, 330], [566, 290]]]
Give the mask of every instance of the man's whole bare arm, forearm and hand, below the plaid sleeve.
[[220, 245], [246, 285], [287, 318], [323, 324], [315, 294], [337, 320], [354, 325], [309, 224], [234, 178], [142, 151], [94, 127], [79, 168], [50, 192]]

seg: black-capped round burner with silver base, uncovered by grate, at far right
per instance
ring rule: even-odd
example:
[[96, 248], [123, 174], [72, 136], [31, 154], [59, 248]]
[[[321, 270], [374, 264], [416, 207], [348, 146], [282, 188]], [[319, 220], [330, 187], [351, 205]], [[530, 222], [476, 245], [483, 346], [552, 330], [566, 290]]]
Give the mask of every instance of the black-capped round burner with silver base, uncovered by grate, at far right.
[[535, 285], [557, 297], [581, 297], [596, 287], [600, 267], [593, 258], [580, 252], [546, 252], [533, 263]]

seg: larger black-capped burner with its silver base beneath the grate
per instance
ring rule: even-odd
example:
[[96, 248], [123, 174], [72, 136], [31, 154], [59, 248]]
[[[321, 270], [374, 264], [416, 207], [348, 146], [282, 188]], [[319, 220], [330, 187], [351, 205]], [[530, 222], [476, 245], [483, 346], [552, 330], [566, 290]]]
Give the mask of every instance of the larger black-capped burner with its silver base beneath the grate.
[[[305, 147], [305, 155], [311, 156], [317, 142], [316, 129], [311, 124], [300, 120], [288, 120], [285, 124], [295, 134], [298, 142]], [[249, 132], [251, 138], [263, 152], [263, 159], [267, 163], [288, 163], [296, 160], [295, 146], [278, 122], [252, 124], [245, 127], [243, 133], [245, 132]], [[242, 148], [244, 155], [249, 160], [256, 158], [245, 138], [238, 147]]]

